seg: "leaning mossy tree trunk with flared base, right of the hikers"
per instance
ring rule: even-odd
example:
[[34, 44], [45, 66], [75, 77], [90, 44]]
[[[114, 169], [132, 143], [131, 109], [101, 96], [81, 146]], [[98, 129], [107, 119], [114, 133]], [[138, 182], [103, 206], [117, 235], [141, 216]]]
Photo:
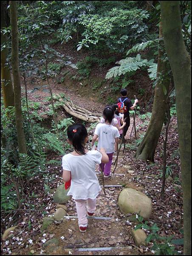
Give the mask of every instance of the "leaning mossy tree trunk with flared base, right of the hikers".
[[[159, 26], [159, 38], [163, 37], [162, 26], [160, 22]], [[166, 99], [169, 91], [169, 79], [166, 76], [166, 64], [161, 60], [164, 55], [164, 50], [159, 47], [158, 49], [158, 66], [157, 66], [157, 78], [159, 76], [165, 76], [156, 84], [155, 96], [152, 107], [152, 115], [150, 119], [147, 132], [139, 145], [135, 157], [140, 160], [150, 160], [154, 162], [155, 149], [158, 143], [159, 136], [161, 134], [161, 129], [163, 126], [165, 113], [166, 113]], [[164, 93], [164, 88], [166, 88], [167, 93]]]

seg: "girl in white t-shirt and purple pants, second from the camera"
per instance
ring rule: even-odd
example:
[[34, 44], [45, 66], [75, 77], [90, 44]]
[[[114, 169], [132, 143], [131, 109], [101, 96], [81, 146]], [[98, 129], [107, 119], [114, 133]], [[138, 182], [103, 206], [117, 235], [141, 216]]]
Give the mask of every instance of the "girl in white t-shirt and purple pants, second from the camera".
[[103, 116], [105, 123], [99, 123], [96, 126], [94, 136], [92, 139], [92, 145], [94, 145], [95, 141], [98, 138], [98, 150], [100, 150], [100, 148], [102, 147], [105, 148], [106, 150], [106, 153], [109, 157], [109, 162], [106, 163], [105, 165], [101, 164], [100, 168], [102, 169], [102, 171], [104, 171], [104, 179], [108, 179], [111, 176], [110, 168], [113, 159], [114, 140], [117, 143], [120, 134], [118, 129], [112, 125], [114, 116], [113, 109], [110, 107], [105, 108], [103, 111]]

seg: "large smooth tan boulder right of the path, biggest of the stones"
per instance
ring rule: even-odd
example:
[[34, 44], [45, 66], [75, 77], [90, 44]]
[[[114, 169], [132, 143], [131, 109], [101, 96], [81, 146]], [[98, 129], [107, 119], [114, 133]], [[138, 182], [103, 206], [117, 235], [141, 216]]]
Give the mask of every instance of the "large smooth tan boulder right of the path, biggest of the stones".
[[123, 189], [119, 195], [119, 209], [122, 213], [139, 213], [144, 219], [150, 218], [152, 201], [147, 195], [135, 189]]

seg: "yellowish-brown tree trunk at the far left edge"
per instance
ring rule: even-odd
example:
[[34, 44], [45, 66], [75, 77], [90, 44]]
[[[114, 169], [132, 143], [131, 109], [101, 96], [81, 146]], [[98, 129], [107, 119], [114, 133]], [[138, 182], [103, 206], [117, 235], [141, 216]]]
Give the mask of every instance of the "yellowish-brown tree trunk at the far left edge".
[[[6, 9], [7, 1], [1, 1], [1, 29], [7, 26], [6, 24]], [[7, 37], [1, 33], [1, 44], [7, 44]], [[3, 91], [3, 102], [5, 108], [9, 106], [14, 107], [14, 92], [13, 85], [11, 81], [11, 73], [6, 64], [6, 58], [8, 55], [8, 48], [5, 47], [1, 51], [1, 81], [2, 81], [2, 91]]]

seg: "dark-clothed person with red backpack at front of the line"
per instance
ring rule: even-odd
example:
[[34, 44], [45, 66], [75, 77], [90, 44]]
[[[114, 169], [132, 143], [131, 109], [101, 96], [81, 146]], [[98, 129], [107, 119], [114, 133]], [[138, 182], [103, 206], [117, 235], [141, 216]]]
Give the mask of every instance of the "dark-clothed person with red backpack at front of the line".
[[[121, 89], [120, 93], [121, 93], [121, 98], [119, 98], [117, 100], [117, 103], [119, 103], [119, 102], [123, 101], [124, 99], [126, 99], [124, 101], [124, 105], [126, 106], [126, 109], [127, 109], [127, 112], [124, 113], [124, 122], [126, 122], [126, 125], [124, 126], [124, 137], [125, 137], [125, 135], [127, 133], [127, 130], [130, 127], [130, 114], [129, 114], [129, 111], [133, 110], [136, 107], [138, 99], [135, 99], [134, 104], [132, 104], [131, 100], [127, 97], [127, 90], [126, 89]], [[121, 99], [121, 101], [120, 101], [120, 99]], [[119, 138], [120, 139], [122, 138], [122, 134], [121, 134], [121, 136]]]

